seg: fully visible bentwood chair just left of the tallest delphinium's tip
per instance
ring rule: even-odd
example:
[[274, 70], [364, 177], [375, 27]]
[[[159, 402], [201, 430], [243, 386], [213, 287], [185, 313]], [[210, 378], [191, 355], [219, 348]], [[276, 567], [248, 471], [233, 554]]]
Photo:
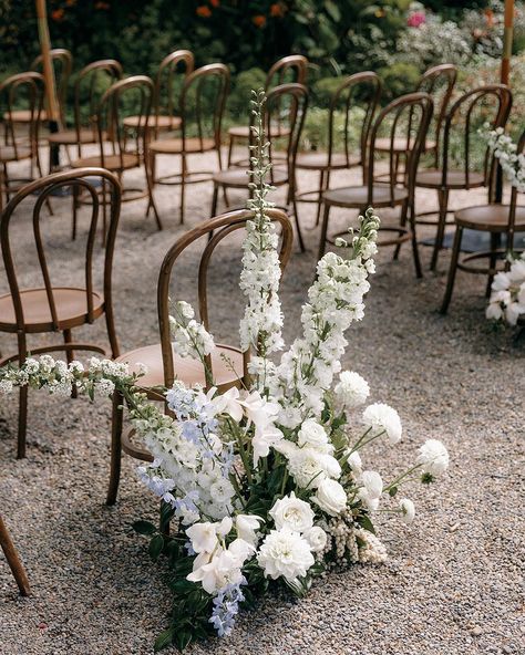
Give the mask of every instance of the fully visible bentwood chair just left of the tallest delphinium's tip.
[[[181, 223], [184, 222], [186, 185], [209, 181], [214, 171], [188, 169], [191, 155], [217, 154], [219, 168], [220, 126], [226, 96], [229, 91], [229, 71], [224, 64], [208, 64], [186, 76], [181, 93], [181, 136], [156, 138], [147, 145], [146, 160], [153, 171], [153, 184], [181, 186]], [[156, 177], [157, 155], [181, 159], [181, 173]]]

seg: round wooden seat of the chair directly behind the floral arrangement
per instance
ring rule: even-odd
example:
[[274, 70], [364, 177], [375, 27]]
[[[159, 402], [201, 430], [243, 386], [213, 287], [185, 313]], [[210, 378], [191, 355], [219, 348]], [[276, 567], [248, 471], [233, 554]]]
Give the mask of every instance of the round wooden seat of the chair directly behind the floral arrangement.
[[[231, 372], [230, 367], [225, 363], [220, 355], [231, 362], [234, 370], [238, 375]], [[206, 385], [204, 376], [203, 364], [198, 360], [191, 357], [181, 357], [173, 355], [175, 377], [181, 380], [187, 386], [200, 384]], [[130, 365], [133, 373], [138, 372], [138, 364], [144, 364], [147, 367], [147, 373], [140, 378], [138, 384], [143, 387], [164, 386], [164, 366], [162, 360], [161, 344], [146, 345], [134, 351], [130, 351], [121, 355], [117, 362], [125, 362]], [[215, 352], [212, 355], [212, 370], [217, 387], [226, 391], [230, 386], [238, 385], [238, 378], [244, 374], [243, 353], [229, 345], [216, 345]]]

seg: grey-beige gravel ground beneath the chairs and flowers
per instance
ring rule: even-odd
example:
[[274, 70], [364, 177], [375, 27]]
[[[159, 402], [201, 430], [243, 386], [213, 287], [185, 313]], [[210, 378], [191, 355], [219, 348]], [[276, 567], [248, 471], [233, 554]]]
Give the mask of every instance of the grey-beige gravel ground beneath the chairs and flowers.
[[[214, 162], [215, 163], [215, 162]], [[344, 175], [333, 181], [344, 183]], [[300, 176], [303, 187], [312, 185]], [[176, 190], [157, 191], [165, 230], [144, 220], [144, 202], [124, 207], [114, 268], [117, 331], [123, 350], [156, 341], [155, 287], [162, 258], [182, 228]], [[455, 206], [482, 193], [457, 194]], [[419, 207], [434, 202], [432, 194]], [[192, 187], [187, 226], [207, 216], [210, 185]], [[65, 279], [82, 280], [81, 241], [69, 241], [69, 202], [54, 201], [49, 221], [52, 257], [68, 262]], [[298, 326], [311, 281], [318, 230], [310, 206], [301, 221], [309, 247], [294, 253], [282, 282], [286, 336]], [[348, 220], [337, 217], [340, 226]], [[389, 220], [392, 214], [383, 211]], [[24, 283], [37, 283], [30, 218], [14, 221]], [[424, 233], [424, 232], [423, 232]], [[60, 250], [59, 250], [60, 249]], [[99, 259], [101, 259], [101, 253]], [[423, 261], [430, 258], [422, 248]], [[195, 278], [197, 250], [181, 262], [178, 288]], [[214, 269], [215, 333], [235, 343], [240, 298], [239, 253], [223, 251]], [[235, 633], [192, 654], [471, 655], [525, 652], [523, 562], [524, 345], [494, 333], [484, 319], [484, 281], [459, 273], [450, 314], [437, 313], [449, 256], [440, 272], [414, 278], [409, 248], [398, 262], [379, 254], [367, 315], [349, 334], [346, 365], [370, 382], [373, 398], [394, 406], [405, 438], [377, 449], [371, 466], [389, 471], [413, 458], [425, 438], [450, 448], [450, 474], [430, 489], [406, 495], [418, 508], [411, 527], [384, 520], [380, 536], [390, 551], [380, 568], [356, 566], [317, 583], [291, 602], [268, 599], [245, 614]], [[0, 291], [7, 288], [0, 272]], [[179, 294], [178, 294], [179, 295]], [[192, 295], [189, 294], [189, 299]], [[82, 331], [104, 341], [103, 323]], [[48, 342], [38, 337], [34, 343]], [[14, 342], [0, 335], [2, 353]], [[165, 571], [150, 562], [146, 542], [133, 533], [137, 518], [153, 518], [156, 501], [124, 460], [120, 502], [104, 506], [109, 468], [110, 405], [62, 401], [31, 393], [28, 458], [14, 458], [17, 403], [0, 405], [0, 507], [28, 569], [33, 595], [21, 599], [0, 561], [2, 655], [138, 655], [153, 652], [169, 609]]]

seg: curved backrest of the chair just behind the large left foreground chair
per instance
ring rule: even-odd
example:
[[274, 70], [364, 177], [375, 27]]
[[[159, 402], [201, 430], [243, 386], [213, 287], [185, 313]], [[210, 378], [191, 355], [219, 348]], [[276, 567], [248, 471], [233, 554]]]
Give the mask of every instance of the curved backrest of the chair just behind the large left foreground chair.
[[[105, 167], [109, 145], [110, 155], [120, 158], [121, 169], [124, 169], [126, 155], [137, 157], [140, 165], [148, 138], [148, 123], [154, 95], [154, 84], [146, 75], [134, 75], [115, 82], [107, 89], [100, 101], [96, 113], [99, 127], [99, 147], [101, 164]], [[132, 112], [137, 116], [136, 129], [133, 134], [124, 127], [124, 112]], [[116, 167], [113, 167], [115, 169]]]

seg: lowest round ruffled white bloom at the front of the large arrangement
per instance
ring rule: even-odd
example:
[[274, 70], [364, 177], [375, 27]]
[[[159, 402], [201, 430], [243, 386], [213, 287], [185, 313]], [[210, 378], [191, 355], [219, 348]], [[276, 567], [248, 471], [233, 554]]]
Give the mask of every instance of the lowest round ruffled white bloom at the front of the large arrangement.
[[315, 559], [308, 541], [298, 532], [284, 528], [271, 530], [266, 537], [257, 562], [268, 578], [277, 580], [282, 576], [289, 582], [296, 582], [307, 574]]

